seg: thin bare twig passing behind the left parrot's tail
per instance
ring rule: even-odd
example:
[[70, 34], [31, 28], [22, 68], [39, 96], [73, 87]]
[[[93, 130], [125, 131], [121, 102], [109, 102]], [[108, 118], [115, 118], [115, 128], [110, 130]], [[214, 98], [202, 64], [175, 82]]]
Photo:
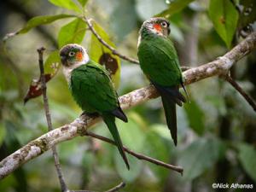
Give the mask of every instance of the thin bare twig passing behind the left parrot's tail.
[[[107, 138], [107, 137], [102, 137], [102, 136], [99, 136], [99, 135], [96, 135], [95, 133], [92, 133], [92, 132], [89, 132], [89, 131], [84, 131], [84, 135], [85, 136], [90, 136], [90, 137], [94, 137], [94, 138], [97, 138], [99, 140], [102, 140], [104, 142], [107, 142], [107, 143], [110, 143], [110, 144], [113, 144], [113, 145], [116, 145], [113, 140]], [[128, 154], [131, 154], [132, 156], [136, 157], [137, 159], [139, 160], [146, 160], [150, 163], [153, 163], [154, 165], [157, 165], [157, 166], [164, 166], [168, 169], [171, 169], [173, 171], [176, 171], [176, 172], [179, 172], [181, 174], [183, 174], [183, 168], [180, 167], [180, 166], [172, 166], [170, 164], [167, 164], [167, 163], [164, 163], [160, 160], [155, 160], [154, 158], [152, 157], [148, 157], [144, 154], [138, 154], [134, 151], [132, 151], [131, 149], [129, 148], [126, 148], [125, 146], [123, 146], [124, 150], [128, 153]]]

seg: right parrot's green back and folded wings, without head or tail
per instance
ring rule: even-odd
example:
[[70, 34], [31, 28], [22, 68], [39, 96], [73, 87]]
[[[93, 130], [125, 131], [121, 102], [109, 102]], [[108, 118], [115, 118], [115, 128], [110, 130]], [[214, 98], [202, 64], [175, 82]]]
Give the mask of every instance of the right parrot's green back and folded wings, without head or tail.
[[163, 86], [180, 84], [182, 73], [171, 39], [148, 34], [138, 47], [138, 58], [149, 79]]

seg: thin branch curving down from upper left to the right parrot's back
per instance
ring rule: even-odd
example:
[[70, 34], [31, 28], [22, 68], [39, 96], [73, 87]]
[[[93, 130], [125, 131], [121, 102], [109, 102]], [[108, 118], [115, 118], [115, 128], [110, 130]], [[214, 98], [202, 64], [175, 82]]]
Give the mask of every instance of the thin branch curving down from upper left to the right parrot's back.
[[90, 28], [90, 31], [96, 36], [96, 38], [99, 40], [99, 42], [101, 42], [105, 47], [107, 47], [108, 49], [110, 49], [112, 51], [113, 55], [118, 55], [120, 58], [122, 58], [126, 61], [130, 61], [132, 63], [139, 64], [139, 62], [136, 59], [132, 59], [131, 57], [120, 54], [116, 49], [114, 49], [106, 41], [104, 41], [102, 39], [102, 37], [96, 32], [95, 28], [90, 23], [90, 20], [88, 20], [85, 16], [82, 17], [82, 20], [84, 20], [87, 23], [87, 25]]

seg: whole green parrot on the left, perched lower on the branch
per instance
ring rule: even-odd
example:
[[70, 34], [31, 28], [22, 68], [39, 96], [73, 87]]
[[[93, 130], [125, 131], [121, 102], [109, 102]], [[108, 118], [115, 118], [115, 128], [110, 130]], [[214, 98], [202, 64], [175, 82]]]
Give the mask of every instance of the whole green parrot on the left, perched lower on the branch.
[[91, 61], [86, 50], [79, 44], [67, 44], [60, 50], [63, 73], [74, 100], [84, 113], [99, 114], [108, 126], [119, 153], [130, 169], [115, 117], [127, 122], [127, 117], [119, 105], [119, 99], [109, 78], [108, 71], [95, 61]]

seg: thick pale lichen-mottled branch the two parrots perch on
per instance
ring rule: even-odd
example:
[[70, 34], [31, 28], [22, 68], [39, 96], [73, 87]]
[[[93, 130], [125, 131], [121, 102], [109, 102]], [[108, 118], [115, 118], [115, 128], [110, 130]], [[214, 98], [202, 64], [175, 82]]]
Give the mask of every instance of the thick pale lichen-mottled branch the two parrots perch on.
[[[185, 71], [183, 73], [185, 84], [192, 84], [201, 79], [227, 73], [236, 61], [239, 61], [243, 56], [250, 53], [255, 47], [256, 32], [253, 32], [240, 44], [236, 45], [234, 49], [231, 49], [230, 52], [218, 57], [217, 60]], [[154, 87], [149, 85], [142, 89], [134, 90], [125, 96], [121, 96], [121, 108], [131, 108], [157, 96], [158, 94]], [[43, 136], [26, 144], [0, 162], [0, 178], [6, 177], [28, 160], [32, 160], [38, 155], [43, 154], [53, 145], [79, 136], [79, 133], [83, 133], [84, 130], [88, 129], [90, 125], [95, 124], [98, 120], [99, 119], [90, 118], [88, 116], [81, 116], [75, 119], [71, 124], [63, 125], [54, 131], [49, 131]]]

